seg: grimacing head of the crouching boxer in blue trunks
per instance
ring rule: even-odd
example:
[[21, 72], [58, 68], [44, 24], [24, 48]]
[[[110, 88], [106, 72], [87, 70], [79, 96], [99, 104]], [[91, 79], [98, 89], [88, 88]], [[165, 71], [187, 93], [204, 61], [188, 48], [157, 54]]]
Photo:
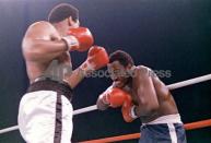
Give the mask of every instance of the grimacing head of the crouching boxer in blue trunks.
[[129, 53], [122, 50], [110, 53], [107, 68], [116, 86], [124, 87], [128, 83], [133, 65], [134, 62]]

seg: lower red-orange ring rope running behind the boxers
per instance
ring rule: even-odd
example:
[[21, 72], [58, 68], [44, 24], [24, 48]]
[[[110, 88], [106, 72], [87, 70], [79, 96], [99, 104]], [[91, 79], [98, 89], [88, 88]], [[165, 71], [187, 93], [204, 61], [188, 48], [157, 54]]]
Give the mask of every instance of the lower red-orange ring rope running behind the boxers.
[[[184, 127], [186, 130], [195, 130], [195, 129], [211, 127], [211, 119], [186, 123], [184, 124]], [[141, 133], [131, 133], [131, 134], [104, 138], [98, 140], [82, 141], [79, 143], [110, 143], [110, 142], [117, 142], [117, 141], [139, 139], [140, 135]]]

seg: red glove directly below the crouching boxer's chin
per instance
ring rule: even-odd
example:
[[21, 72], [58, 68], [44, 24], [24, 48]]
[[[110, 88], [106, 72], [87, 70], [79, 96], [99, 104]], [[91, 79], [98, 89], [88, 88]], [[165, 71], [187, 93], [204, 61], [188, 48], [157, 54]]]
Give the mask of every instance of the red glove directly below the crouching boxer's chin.
[[105, 105], [109, 105], [113, 108], [117, 108], [124, 105], [127, 96], [129, 96], [125, 91], [117, 87], [108, 87], [99, 98]]

